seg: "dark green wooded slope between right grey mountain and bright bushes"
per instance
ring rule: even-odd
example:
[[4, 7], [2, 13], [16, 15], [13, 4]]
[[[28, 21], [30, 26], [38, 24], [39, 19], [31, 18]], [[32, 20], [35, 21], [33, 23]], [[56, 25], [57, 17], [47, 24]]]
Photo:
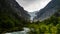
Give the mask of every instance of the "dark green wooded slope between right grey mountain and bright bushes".
[[46, 25], [53, 24], [54, 26], [60, 24], [60, 9], [57, 12], [55, 12], [50, 18], [42, 21], [42, 23], [45, 23]]

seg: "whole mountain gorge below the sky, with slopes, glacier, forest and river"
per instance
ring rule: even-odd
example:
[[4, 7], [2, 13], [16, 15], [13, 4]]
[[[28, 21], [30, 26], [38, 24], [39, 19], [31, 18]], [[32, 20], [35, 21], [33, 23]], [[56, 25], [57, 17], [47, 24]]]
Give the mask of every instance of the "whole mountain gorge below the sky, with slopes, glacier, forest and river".
[[29, 29], [29, 34], [59, 34], [60, 0], [51, 0], [35, 12], [27, 12], [16, 0], [0, 0], [0, 34], [25, 34]]

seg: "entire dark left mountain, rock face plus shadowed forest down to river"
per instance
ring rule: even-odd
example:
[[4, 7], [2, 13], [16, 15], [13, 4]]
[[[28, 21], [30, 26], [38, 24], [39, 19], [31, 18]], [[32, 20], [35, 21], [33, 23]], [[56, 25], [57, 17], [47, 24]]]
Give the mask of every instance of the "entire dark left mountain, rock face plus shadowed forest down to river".
[[16, 0], [0, 0], [0, 33], [22, 30], [29, 19], [28, 12]]

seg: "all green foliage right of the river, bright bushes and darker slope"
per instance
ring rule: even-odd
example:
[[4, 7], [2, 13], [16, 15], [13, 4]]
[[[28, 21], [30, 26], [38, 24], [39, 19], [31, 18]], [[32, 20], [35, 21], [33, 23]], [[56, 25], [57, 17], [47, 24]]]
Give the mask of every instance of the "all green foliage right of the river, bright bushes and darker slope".
[[50, 18], [40, 22], [33, 22], [28, 26], [29, 34], [60, 34], [60, 10]]

